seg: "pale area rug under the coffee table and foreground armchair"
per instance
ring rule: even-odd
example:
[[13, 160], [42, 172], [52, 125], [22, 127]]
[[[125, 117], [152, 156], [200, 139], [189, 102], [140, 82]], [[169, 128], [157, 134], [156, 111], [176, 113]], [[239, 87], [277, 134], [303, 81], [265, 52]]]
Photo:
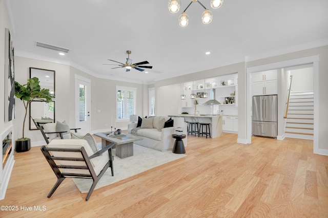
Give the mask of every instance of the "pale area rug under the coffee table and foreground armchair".
[[[172, 151], [157, 151], [136, 144], [133, 144], [133, 156], [131, 157], [120, 159], [115, 156], [115, 149], [113, 149], [113, 154], [114, 176], [112, 176], [111, 169], [108, 168], [95, 189], [132, 177], [156, 166], [186, 157], [185, 154], [174, 154]], [[73, 181], [82, 193], [89, 192], [92, 179], [73, 179]]]

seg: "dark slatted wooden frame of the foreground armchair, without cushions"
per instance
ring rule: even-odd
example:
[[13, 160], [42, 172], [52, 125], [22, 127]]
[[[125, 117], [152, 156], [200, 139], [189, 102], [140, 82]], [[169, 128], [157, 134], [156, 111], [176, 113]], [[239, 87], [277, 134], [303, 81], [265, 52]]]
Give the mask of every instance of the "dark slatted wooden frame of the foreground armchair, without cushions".
[[[81, 147], [79, 149], [71, 149], [71, 148], [48, 148], [46, 146], [42, 146], [41, 150], [45, 156], [45, 158], [47, 159], [51, 169], [53, 170], [53, 172], [55, 173], [56, 177], [57, 177], [57, 182], [55, 183], [55, 185], [53, 186], [53, 188], [50, 190], [49, 194], [48, 194], [48, 198], [51, 197], [51, 195], [55, 192], [55, 190], [58, 188], [58, 186], [61, 184], [61, 182], [63, 182], [65, 180], [65, 178], [84, 178], [84, 179], [92, 179], [93, 183], [91, 185], [91, 188], [87, 194], [87, 198], [86, 201], [89, 200], [90, 195], [93, 191], [93, 189], [96, 187], [99, 179], [104, 175], [104, 173], [106, 172], [107, 168], [111, 168], [112, 171], [112, 176], [114, 176], [114, 168], [113, 168], [113, 159], [114, 156], [112, 155], [112, 147], [115, 145], [115, 143], [110, 143], [109, 145], [107, 145], [106, 147], [104, 147], [103, 149], [97, 151], [95, 154], [93, 154], [92, 156], [88, 157], [87, 152], [85, 150], [84, 147]], [[54, 157], [52, 156], [49, 151], [64, 151], [64, 152], [80, 152], [81, 156], [83, 158], [68, 158], [68, 157]], [[90, 162], [90, 160], [92, 158], [98, 157], [99, 155], [103, 154], [105, 151], [108, 151], [108, 155], [109, 155], [109, 160], [107, 162], [107, 164], [104, 166], [104, 168], [100, 171], [99, 175], [97, 176], [92, 164]], [[86, 166], [74, 166], [74, 165], [60, 165], [60, 164], [56, 164], [55, 161], [79, 161], [79, 162], [85, 162]], [[61, 172], [59, 169], [87, 169], [89, 170], [89, 174], [81, 174], [81, 173], [63, 173]]]

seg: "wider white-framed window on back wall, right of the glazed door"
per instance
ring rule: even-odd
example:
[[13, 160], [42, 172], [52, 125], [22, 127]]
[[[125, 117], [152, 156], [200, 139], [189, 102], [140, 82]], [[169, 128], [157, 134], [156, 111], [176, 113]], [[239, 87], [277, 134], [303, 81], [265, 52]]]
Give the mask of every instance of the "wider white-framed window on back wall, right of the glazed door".
[[116, 118], [117, 120], [130, 119], [130, 115], [135, 114], [136, 89], [117, 86], [116, 90], [117, 90]]

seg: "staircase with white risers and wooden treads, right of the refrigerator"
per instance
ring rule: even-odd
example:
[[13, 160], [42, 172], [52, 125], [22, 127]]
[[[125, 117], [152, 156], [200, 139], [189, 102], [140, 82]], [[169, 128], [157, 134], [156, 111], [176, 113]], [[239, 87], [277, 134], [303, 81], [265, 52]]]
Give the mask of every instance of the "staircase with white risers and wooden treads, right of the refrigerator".
[[313, 92], [291, 92], [285, 137], [313, 140]]

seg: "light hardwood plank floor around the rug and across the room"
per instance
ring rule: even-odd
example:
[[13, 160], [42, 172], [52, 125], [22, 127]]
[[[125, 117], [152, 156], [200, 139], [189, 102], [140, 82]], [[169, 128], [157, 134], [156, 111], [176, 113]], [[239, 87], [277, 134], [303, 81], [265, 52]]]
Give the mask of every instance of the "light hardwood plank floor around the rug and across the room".
[[187, 157], [94, 190], [89, 201], [71, 179], [48, 199], [56, 177], [32, 147], [14, 154], [0, 201], [19, 210], [0, 217], [328, 217], [328, 157], [313, 154], [313, 141], [236, 141], [189, 136]]

